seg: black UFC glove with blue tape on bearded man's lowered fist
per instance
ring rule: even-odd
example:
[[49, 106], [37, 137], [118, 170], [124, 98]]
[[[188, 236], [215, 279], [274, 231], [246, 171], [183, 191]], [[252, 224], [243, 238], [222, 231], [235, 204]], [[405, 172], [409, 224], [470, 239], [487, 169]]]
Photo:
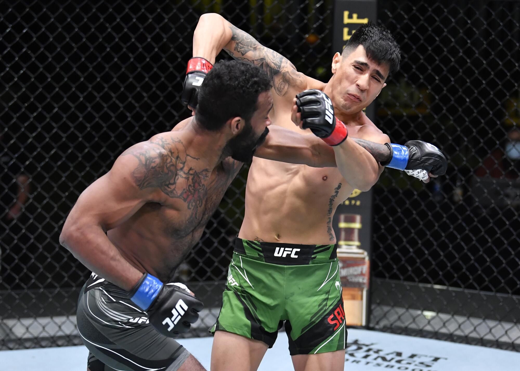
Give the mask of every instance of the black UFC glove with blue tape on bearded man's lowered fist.
[[150, 324], [167, 337], [189, 331], [199, 318], [204, 304], [179, 283], [163, 285], [157, 277], [145, 273], [128, 297], [146, 311]]

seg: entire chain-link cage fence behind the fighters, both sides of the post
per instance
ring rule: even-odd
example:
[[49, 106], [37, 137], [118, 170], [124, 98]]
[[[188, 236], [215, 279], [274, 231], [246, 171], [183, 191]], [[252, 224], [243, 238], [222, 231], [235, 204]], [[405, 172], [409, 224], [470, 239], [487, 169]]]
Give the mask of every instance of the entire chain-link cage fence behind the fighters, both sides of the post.
[[[516, 2], [475, 4], [379, 2], [404, 61], [378, 98], [376, 124], [394, 142], [437, 144], [450, 168], [427, 186], [387, 170], [376, 186], [370, 326], [517, 349], [519, 166], [510, 131], [520, 120], [520, 14]], [[119, 153], [189, 115], [180, 92], [199, 16], [222, 14], [327, 81], [332, 6], [0, 3], [0, 347], [81, 343], [74, 314], [89, 272], [59, 246], [62, 223]], [[191, 335], [207, 334], [218, 314], [246, 174], [178, 270], [206, 306]]]

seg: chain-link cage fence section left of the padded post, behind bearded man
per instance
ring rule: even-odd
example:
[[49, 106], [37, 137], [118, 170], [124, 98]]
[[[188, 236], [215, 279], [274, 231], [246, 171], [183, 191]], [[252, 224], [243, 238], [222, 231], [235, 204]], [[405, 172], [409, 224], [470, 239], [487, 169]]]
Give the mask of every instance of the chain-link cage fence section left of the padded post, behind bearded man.
[[[180, 94], [200, 15], [224, 15], [319, 78], [331, 11], [330, 1], [0, 3], [0, 347], [81, 343], [75, 308], [89, 272], [59, 246], [62, 224], [124, 149], [189, 116]], [[199, 335], [218, 314], [247, 171], [178, 270], [207, 308]]]

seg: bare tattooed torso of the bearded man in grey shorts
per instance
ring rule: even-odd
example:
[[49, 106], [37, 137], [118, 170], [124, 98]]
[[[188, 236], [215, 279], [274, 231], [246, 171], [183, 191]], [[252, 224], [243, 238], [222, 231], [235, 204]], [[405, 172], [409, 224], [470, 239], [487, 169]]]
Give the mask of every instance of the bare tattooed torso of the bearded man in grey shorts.
[[228, 157], [208, 168], [199, 158], [191, 157], [193, 149], [182, 131], [163, 133], [150, 141], [163, 148], [159, 155], [153, 149], [132, 148], [123, 155], [139, 160], [133, 172], [139, 188], [157, 190], [149, 202], [107, 235], [133, 266], [169, 282], [199, 241], [242, 163]]

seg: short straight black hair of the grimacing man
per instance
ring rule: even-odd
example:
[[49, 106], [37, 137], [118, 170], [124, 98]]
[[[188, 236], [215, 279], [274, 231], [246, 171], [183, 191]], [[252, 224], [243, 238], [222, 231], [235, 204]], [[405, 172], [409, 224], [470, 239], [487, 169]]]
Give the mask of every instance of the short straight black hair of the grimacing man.
[[401, 50], [394, 36], [385, 26], [378, 26], [373, 22], [361, 25], [350, 36], [341, 54], [344, 55], [345, 52], [350, 54], [359, 45], [365, 48], [368, 58], [379, 64], [388, 63], [389, 74], [399, 70]]

